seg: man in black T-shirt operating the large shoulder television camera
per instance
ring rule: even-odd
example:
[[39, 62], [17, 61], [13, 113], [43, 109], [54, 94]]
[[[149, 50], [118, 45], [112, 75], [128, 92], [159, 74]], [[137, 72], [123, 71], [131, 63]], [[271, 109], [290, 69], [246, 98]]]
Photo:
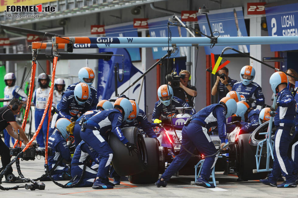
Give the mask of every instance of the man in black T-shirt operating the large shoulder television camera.
[[[179, 77], [180, 78], [180, 82], [179, 82], [179, 87], [176, 88], [174, 86], [174, 84], [172, 85], [172, 82], [169, 82], [169, 85], [172, 86], [173, 88], [173, 92], [174, 92], [174, 96], [176, 96], [177, 98], [182, 99], [184, 102], [186, 102], [189, 106], [193, 107], [193, 97], [196, 97], [197, 92], [196, 92], [196, 87], [189, 85], [188, 82], [191, 79], [190, 76], [190, 72], [187, 70], [181, 70], [179, 72]], [[184, 77], [184, 78], [183, 78]], [[171, 79], [171, 78], [168, 78]], [[177, 83], [178, 85], [178, 83]]]

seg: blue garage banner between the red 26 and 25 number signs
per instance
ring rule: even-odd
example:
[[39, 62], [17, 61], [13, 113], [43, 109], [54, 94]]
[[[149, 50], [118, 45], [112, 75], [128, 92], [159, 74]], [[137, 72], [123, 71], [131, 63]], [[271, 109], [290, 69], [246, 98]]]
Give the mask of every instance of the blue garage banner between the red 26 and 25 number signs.
[[[108, 37], [138, 37], [137, 29], [133, 28], [133, 23], [131, 25], [116, 26], [114, 28], [106, 28], [106, 36]], [[131, 61], [140, 61], [140, 48], [126, 48], [128, 51]]]

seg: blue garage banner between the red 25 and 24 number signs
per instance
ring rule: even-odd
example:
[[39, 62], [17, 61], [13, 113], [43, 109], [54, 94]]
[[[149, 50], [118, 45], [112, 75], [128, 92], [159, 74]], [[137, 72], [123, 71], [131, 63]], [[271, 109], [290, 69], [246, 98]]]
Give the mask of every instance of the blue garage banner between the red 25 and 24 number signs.
[[[169, 16], [171, 17], [171, 16]], [[148, 20], [149, 33], [151, 37], [168, 37], [168, 19], [169, 17], [154, 18]], [[166, 20], [165, 20], [166, 18]], [[177, 26], [170, 26], [172, 37], [186, 37], [186, 29]], [[170, 50], [172, 49], [170, 44]], [[186, 56], [186, 47], [178, 47], [179, 53], [175, 57]], [[168, 51], [168, 47], [153, 47], [153, 59], [160, 59]], [[173, 57], [174, 58], [174, 57]]]

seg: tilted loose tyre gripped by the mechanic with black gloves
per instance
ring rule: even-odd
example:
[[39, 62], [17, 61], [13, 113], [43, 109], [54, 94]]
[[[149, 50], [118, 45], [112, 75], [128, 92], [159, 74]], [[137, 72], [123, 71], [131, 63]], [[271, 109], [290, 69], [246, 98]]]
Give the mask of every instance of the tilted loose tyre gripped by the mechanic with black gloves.
[[139, 152], [129, 155], [126, 146], [114, 134], [109, 136], [109, 145], [113, 150], [112, 164], [116, 173], [120, 176], [134, 175], [143, 172], [147, 168], [148, 154], [144, 138], [137, 127], [121, 129], [123, 135], [130, 143], [134, 143]]

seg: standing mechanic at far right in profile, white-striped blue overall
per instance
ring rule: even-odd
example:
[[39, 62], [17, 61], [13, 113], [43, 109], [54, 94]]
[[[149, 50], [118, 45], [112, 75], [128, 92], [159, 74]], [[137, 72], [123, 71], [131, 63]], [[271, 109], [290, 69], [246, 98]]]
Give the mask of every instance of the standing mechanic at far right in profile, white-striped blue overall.
[[[287, 89], [288, 78], [283, 72], [275, 72], [270, 77], [270, 85], [273, 93], [277, 93], [276, 106], [270, 107], [274, 113], [275, 131], [275, 147], [274, 162], [272, 173], [268, 178], [260, 180], [261, 183], [278, 188], [297, 187], [295, 176], [293, 175], [293, 161], [288, 157], [289, 144], [293, 140], [295, 130], [292, 130], [294, 119], [297, 112], [296, 101], [292, 93]], [[276, 181], [282, 173], [286, 177], [286, 181], [277, 185]]]

